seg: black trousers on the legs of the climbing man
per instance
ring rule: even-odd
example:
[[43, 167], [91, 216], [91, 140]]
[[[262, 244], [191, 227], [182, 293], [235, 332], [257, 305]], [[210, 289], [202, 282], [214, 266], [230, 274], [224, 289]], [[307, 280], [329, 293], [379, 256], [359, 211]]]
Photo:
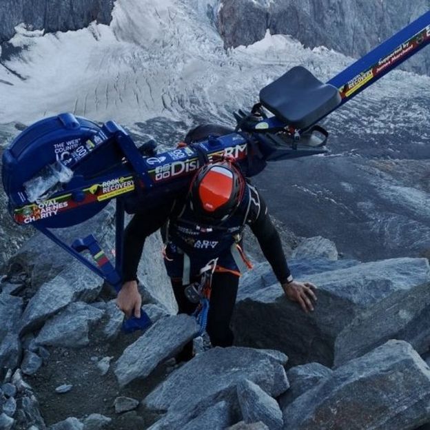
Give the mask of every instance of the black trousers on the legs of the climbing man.
[[[215, 272], [212, 276], [212, 292], [209, 300], [206, 331], [214, 347], [231, 347], [233, 345], [230, 321], [236, 303], [238, 284], [239, 277], [229, 272]], [[178, 302], [178, 314], [191, 315], [196, 310], [197, 305], [191, 303], [185, 296], [186, 285], [182, 285], [182, 280], [172, 279], [172, 287]], [[184, 361], [192, 358], [192, 342], [185, 345], [177, 358]]]

